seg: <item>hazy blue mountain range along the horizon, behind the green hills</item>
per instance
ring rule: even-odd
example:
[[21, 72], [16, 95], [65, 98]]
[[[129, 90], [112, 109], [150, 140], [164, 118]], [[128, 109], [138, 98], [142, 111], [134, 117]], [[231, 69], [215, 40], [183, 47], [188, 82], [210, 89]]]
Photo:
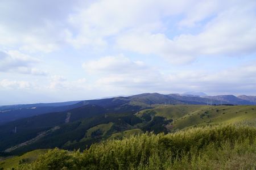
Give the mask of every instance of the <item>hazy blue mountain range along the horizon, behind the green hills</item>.
[[44, 113], [63, 112], [84, 105], [100, 107], [118, 107], [120, 105], [137, 105], [147, 108], [154, 104], [202, 104], [202, 105], [256, 105], [256, 96], [219, 95], [207, 96], [203, 92], [186, 92], [184, 94], [163, 95], [158, 93], [139, 94], [128, 97], [111, 97], [108, 99], [67, 101], [64, 103], [39, 103], [7, 105], [0, 107], [0, 124], [15, 121], [19, 118], [36, 116]]

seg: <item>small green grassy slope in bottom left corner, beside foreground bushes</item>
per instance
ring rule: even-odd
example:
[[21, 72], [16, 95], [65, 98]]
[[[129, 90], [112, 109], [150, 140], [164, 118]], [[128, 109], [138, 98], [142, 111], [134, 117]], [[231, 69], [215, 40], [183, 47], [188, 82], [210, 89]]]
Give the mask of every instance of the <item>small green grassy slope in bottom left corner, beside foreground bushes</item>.
[[14, 156], [12, 158], [0, 161], [0, 168], [8, 169], [19, 165], [20, 162], [23, 163], [32, 163], [34, 162], [39, 155], [45, 154], [48, 150], [34, 150], [27, 152], [21, 156]]

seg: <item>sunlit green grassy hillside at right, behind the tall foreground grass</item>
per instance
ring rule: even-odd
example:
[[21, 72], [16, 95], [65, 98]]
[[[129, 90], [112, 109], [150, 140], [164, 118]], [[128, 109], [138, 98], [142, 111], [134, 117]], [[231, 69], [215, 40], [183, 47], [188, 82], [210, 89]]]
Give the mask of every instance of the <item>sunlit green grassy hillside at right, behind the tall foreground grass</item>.
[[170, 131], [195, 125], [256, 121], [255, 105], [167, 105], [141, 111], [138, 116], [149, 111], [154, 111], [155, 116], [173, 119], [168, 126]]

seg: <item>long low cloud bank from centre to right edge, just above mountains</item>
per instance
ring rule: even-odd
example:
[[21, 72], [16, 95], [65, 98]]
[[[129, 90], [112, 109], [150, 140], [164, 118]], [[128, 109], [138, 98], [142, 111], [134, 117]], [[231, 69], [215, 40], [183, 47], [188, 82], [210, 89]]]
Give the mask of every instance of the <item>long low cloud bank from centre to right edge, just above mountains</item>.
[[242, 94], [255, 91], [255, 65], [252, 62], [214, 72], [197, 69], [160, 73], [161, 69], [145, 63], [139, 67], [129, 58], [112, 56], [87, 62], [84, 66], [96, 78], [91, 83], [93, 89], [113, 93], [204, 91], [209, 94]]

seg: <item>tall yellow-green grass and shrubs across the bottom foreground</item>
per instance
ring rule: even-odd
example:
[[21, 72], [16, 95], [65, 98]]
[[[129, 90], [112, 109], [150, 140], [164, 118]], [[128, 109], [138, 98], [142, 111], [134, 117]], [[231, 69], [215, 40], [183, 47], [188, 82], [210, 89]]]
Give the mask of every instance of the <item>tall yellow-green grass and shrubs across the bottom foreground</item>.
[[[1, 165], [0, 165], [1, 167]], [[55, 148], [16, 169], [255, 169], [255, 126], [218, 125], [145, 133], [90, 146]]]

